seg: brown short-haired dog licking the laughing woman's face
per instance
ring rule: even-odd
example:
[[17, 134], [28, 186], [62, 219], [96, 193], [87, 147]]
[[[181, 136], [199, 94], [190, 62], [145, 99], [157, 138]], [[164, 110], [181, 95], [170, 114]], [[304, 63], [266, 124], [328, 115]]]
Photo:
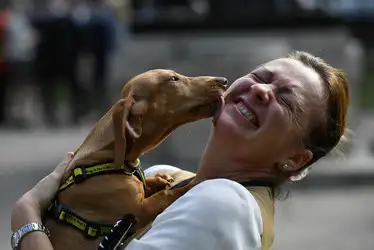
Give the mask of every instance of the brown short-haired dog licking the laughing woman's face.
[[[76, 150], [70, 165], [75, 174], [79, 166], [108, 163], [117, 174], [100, 175], [79, 184], [76, 179], [74, 185], [67, 185], [58, 194], [58, 205], [52, 209], [54, 220], [47, 221], [54, 249], [96, 249], [101, 234], [92, 222], [113, 225], [124, 214], [133, 214], [136, 230], [187, 192], [192, 185], [165, 190], [167, 175], [142, 182], [141, 177], [134, 176], [136, 168], [131, 163], [178, 126], [214, 115], [226, 84], [225, 78], [186, 77], [171, 70], [152, 70], [132, 78], [122, 89], [121, 99]], [[118, 174], [120, 171], [122, 174]], [[69, 181], [69, 175], [65, 180]], [[75, 217], [69, 216], [71, 212]], [[87, 233], [94, 237], [88, 238]]]

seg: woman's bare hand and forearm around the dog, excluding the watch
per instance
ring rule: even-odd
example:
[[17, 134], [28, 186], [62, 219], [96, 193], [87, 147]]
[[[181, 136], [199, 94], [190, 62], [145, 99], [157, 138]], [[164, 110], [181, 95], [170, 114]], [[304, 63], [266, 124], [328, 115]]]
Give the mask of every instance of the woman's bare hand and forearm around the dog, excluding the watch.
[[[53, 200], [61, 183], [61, 178], [72, 157], [73, 153], [69, 153], [68, 157], [51, 174], [43, 178], [16, 202], [13, 206], [11, 218], [11, 229], [13, 232], [29, 223], [41, 223], [42, 212], [48, 208]], [[26, 234], [22, 238], [21, 243], [19, 247], [21, 250], [53, 249], [48, 236], [40, 231]]]

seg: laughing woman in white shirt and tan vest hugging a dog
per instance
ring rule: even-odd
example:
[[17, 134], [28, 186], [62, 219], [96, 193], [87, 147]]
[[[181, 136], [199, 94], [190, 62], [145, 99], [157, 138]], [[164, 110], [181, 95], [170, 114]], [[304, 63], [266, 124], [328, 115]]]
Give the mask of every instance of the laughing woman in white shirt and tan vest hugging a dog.
[[[213, 117], [196, 175], [183, 184], [205, 181], [162, 212], [126, 249], [269, 249], [277, 190], [304, 177], [338, 145], [348, 103], [343, 72], [305, 52], [267, 62], [237, 79]], [[18, 200], [13, 231], [42, 223], [63, 172], [71, 171], [66, 166], [62, 163]], [[177, 170], [156, 165], [146, 174]], [[29, 233], [19, 249], [52, 245], [45, 233]]]

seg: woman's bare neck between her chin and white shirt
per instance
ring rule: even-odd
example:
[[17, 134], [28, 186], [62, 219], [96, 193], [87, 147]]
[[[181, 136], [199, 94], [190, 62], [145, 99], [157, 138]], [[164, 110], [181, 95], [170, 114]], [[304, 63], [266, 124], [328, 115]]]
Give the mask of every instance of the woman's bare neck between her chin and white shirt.
[[259, 163], [235, 159], [227, 145], [217, 142], [211, 136], [201, 158], [195, 180], [225, 178], [234, 181], [272, 179], [273, 168]]

